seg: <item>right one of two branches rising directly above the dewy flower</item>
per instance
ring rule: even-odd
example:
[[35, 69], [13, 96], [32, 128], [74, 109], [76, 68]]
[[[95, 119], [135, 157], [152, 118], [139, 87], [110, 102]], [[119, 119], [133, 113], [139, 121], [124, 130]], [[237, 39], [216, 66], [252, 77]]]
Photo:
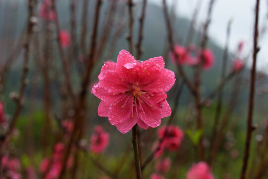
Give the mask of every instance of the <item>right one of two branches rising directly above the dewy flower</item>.
[[142, 10], [141, 10], [141, 15], [139, 17], [138, 42], [137, 42], [137, 45], [136, 45], [136, 48], [137, 48], [137, 60], [140, 60], [140, 56], [142, 54], [141, 42], [142, 42], [142, 38], [143, 38], [142, 30], [143, 30], [143, 25], [144, 25], [146, 3], [147, 3], [147, 0], [142, 1]]

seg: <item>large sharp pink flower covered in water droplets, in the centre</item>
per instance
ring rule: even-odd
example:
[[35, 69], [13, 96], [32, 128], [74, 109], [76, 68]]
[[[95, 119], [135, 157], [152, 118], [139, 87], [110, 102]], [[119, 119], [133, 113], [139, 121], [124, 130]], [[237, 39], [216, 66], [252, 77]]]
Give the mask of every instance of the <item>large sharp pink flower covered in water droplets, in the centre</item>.
[[121, 50], [117, 63], [107, 62], [102, 67], [99, 83], [92, 89], [102, 100], [99, 116], [108, 117], [124, 134], [135, 124], [143, 129], [159, 126], [161, 118], [171, 114], [165, 92], [175, 82], [174, 72], [164, 66], [163, 57], [141, 63]]

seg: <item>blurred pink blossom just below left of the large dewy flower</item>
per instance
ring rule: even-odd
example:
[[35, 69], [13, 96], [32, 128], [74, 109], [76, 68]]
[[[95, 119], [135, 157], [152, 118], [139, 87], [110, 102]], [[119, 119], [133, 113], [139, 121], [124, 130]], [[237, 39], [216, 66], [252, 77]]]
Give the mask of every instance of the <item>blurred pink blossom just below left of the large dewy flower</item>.
[[105, 132], [102, 126], [96, 126], [90, 138], [90, 150], [96, 154], [103, 152], [110, 142], [109, 133]]

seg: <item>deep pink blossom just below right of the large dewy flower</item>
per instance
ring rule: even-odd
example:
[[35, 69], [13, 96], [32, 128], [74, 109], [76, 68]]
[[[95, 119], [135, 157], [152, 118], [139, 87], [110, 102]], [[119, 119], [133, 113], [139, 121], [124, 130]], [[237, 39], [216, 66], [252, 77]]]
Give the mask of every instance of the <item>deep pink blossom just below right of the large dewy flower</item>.
[[158, 130], [158, 138], [163, 140], [163, 145], [168, 148], [170, 151], [177, 150], [181, 146], [181, 142], [183, 139], [183, 131], [177, 127], [169, 125], [167, 126], [167, 134], [165, 135], [166, 126], [161, 127]]

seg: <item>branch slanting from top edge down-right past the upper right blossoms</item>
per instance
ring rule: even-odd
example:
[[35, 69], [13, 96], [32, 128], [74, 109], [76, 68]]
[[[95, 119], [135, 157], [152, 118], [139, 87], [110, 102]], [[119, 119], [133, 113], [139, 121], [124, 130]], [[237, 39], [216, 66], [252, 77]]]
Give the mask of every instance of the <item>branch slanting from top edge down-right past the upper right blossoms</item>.
[[[169, 48], [174, 53], [175, 58], [177, 58], [177, 54], [174, 51], [173, 31], [172, 31], [172, 26], [171, 26], [171, 23], [170, 23], [170, 18], [169, 18], [169, 15], [168, 15], [166, 0], [163, 0], [163, 11], [164, 11], [164, 17], [165, 17], [167, 31], [168, 31]], [[184, 83], [188, 87], [188, 89], [191, 91], [192, 94], [195, 94], [196, 91], [194, 89], [194, 86], [189, 81], [189, 79], [188, 79], [187, 75], [185, 74], [182, 66], [181, 65], [177, 65], [177, 68], [178, 68], [178, 71], [179, 71], [179, 73], [180, 73], [180, 75], [181, 75]]]

